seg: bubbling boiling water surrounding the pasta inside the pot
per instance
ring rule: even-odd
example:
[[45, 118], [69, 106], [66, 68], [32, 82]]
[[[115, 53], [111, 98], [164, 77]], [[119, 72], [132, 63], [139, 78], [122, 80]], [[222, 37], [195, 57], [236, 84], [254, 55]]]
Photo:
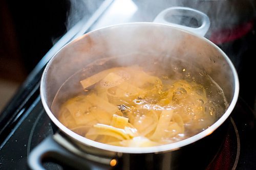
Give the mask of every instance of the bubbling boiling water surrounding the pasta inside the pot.
[[[130, 101], [125, 101], [126, 98], [118, 98], [118, 101], [114, 102], [118, 108], [118, 111], [115, 114], [120, 114], [123, 117], [129, 118], [129, 123], [133, 122], [133, 128], [134, 126], [137, 127], [135, 128], [136, 131], [143, 131], [142, 134], [145, 135], [142, 135], [142, 137], [148, 137], [151, 140], [154, 140], [154, 132], [156, 133], [157, 131], [157, 125], [154, 125], [155, 129], [151, 130], [150, 132], [148, 132], [149, 130], [145, 131], [143, 128], [144, 126], [148, 126], [150, 129], [153, 126], [153, 123], [151, 123], [152, 126], [148, 125], [150, 124], [148, 122], [152, 122], [152, 120], [147, 116], [149, 114], [148, 110], [153, 110], [155, 112], [154, 114], [156, 114], [157, 122], [160, 122], [160, 117], [164, 116], [163, 110], [172, 110], [172, 116], [179, 115], [171, 121], [173, 123], [173, 127], [175, 128], [164, 130], [164, 133], [170, 134], [171, 137], [166, 137], [165, 135], [161, 137], [161, 141], [157, 141], [158, 144], [165, 144], [188, 138], [207, 129], [224, 114], [228, 107], [223, 90], [204, 69], [199, 69], [191, 65], [191, 63], [180, 60], [171, 60], [167, 62], [165, 58], [147, 58], [145, 60], [145, 58], [142, 57], [136, 60], [136, 62], [134, 62], [134, 60], [126, 60], [125, 62], [122, 60], [121, 62], [117, 62], [116, 58], [102, 59], [100, 62], [96, 61], [95, 63], [92, 63], [89, 66], [79, 70], [65, 83], [63, 83], [58, 90], [52, 104], [52, 112], [56, 115], [56, 117], [59, 118], [62, 124], [72, 129], [79, 135], [86, 136], [87, 132], [92, 126], [97, 123], [102, 124], [102, 121], [97, 121], [97, 118], [95, 118], [93, 119], [95, 121], [92, 121], [90, 125], [83, 125], [80, 122], [78, 123], [74, 121], [76, 118], [73, 117], [70, 122], [73, 121], [74, 124], [78, 123], [76, 126], [73, 126], [72, 123], [67, 123], [66, 119], [70, 116], [67, 109], [65, 110], [65, 121], [60, 118], [62, 116], [61, 114], [63, 114], [61, 113], [63, 112], [63, 109], [61, 111], [63, 105], [65, 105], [67, 101], [70, 102], [70, 100], [73, 99], [75, 99], [73, 102], [82, 101], [83, 97], [81, 96], [90, 95], [92, 91], [95, 91], [95, 88], [112, 88], [112, 90], [109, 90], [108, 92], [110, 95], [115, 95], [115, 88], [113, 87], [119, 85], [120, 82], [125, 82], [131, 79], [131, 77], [136, 77], [136, 72], [131, 73], [131, 70], [129, 71], [129, 69], [121, 70], [118, 72], [118, 76], [120, 76], [122, 79], [114, 81], [114, 83], [104, 82], [101, 80], [86, 89], [83, 89], [79, 82], [97, 74], [100, 71], [112, 68], [113, 66], [129, 68], [131, 66], [133, 67], [134, 65], [136, 65], [136, 68], [141, 68], [142, 71], [146, 72], [146, 74], [158, 78], [154, 80], [153, 83], [147, 84], [148, 87], [143, 87], [148, 89], [151, 88], [150, 86], [153, 86], [154, 90], [148, 90], [143, 97], [136, 96], [135, 99]], [[139, 71], [137, 74], [139, 74]], [[139, 79], [135, 80], [136, 82], [140, 81]], [[169, 89], [174, 89], [171, 94], [166, 92]], [[191, 93], [193, 93], [193, 95]], [[127, 93], [125, 95], [129, 96], [130, 94]], [[202, 97], [204, 95], [205, 98]], [[197, 98], [196, 96], [199, 97]], [[101, 97], [103, 100], [110, 100], [110, 98], [107, 99], [105, 96], [99, 97]], [[97, 109], [97, 107], [99, 106], [93, 106], [93, 108], [91, 108]], [[140, 111], [138, 111], [138, 109], [140, 109]], [[90, 110], [87, 109], [85, 113], [79, 112], [74, 114], [74, 116], [77, 116], [78, 118], [81, 116], [81, 114], [89, 113]], [[133, 116], [132, 119], [131, 115]], [[169, 115], [165, 114], [165, 116], [168, 117]], [[104, 123], [106, 125], [110, 125], [110, 121], [108, 122], [106, 120]], [[169, 127], [172, 127], [172, 125], [169, 125]], [[183, 126], [184, 130], [182, 130]], [[136, 135], [133, 137], [134, 140], [138, 138]], [[139, 137], [141, 137], [141, 135], [139, 135]], [[95, 140], [101, 141], [102, 138]], [[114, 145], [116, 145], [116, 143]]]

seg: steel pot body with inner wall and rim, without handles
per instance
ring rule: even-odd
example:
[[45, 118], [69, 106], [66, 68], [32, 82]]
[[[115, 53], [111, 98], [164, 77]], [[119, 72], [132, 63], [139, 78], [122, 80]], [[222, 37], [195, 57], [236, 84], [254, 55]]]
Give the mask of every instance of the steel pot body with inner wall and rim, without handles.
[[[200, 71], [203, 71], [221, 87], [228, 108], [225, 113], [219, 115], [215, 124], [201, 133], [179, 142], [157, 147], [116, 147], [79, 136], [63, 126], [57, 118], [58, 113], [51, 110], [55, 95], [61, 85], [76, 72], [92, 63], [100, 69], [108, 58], [113, 57], [114, 62], [109, 67], [157, 60], [162, 63], [163, 67], [175, 66], [181, 70], [186, 68], [192, 73], [193, 70], [199, 70], [193, 73], [198, 74], [196, 77], [198, 81], [203, 79], [200, 74]], [[218, 147], [220, 146], [222, 140], [219, 138], [223, 137], [220, 135], [223, 131], [219, 129], [225, 126], [236, 105], [239, 81], [236, 69], [229, 58], [218, 46], [206, 38], [172, 26], [140, 22], [99, 29], [64, 46], [46, 66], [41, 79], [40, 94], [42, 104], [52, 122], [83, 153], [111, 159], [120, 158], [122, 168], [126, 169], [135, 168], [132, 164], [140, 164], [139, 160], [144, 160], [145, 166], [155, 169], [167, 169], [170, 166], [175, 169], [175, 167], [180, 167], [178, 164], [184, 164], [181, 162], [185, 159], [189, 160], [189, 157], [185, 156], [187, 153], [191, 155], [194, 152], [191, 155], [193, 156], [197, 152], [204, 159], [204, 152], [207, 148], [209, 150], [216, 148], [212, 147], [212, 141], [215, 141]], [[60, 138], [56, 140], [65, 146]], [[72, 151], [72, 149], [69, 150]], [[190, 160], [193, 159], [190, 158]], [[169, 163], [166, 164], [166, 161]]]

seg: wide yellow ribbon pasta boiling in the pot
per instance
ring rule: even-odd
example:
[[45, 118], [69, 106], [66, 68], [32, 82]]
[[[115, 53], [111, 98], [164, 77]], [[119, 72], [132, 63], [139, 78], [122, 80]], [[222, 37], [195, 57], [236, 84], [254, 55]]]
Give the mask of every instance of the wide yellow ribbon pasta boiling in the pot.
[[195, 81], [151, 75], [139, 66], [106, 69], [80, 81], [87, 91], [62, 104], [58, 119], [88, 139], [151, 147], [188, 138], [216, 121]]

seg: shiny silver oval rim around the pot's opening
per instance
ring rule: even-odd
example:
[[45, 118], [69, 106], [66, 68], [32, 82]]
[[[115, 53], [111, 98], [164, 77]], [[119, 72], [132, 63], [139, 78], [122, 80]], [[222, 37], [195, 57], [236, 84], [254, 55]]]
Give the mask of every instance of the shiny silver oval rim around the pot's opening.
[[[212, 124], [210, 127], [208, 127], [206, 130], [191, 136], [187, 139], [183, 139], [174, 143], [169, 143], [169, 144], [163, 144], [163, 145], [158, 145], [155, 147], [117, 147], [114, 145], [109, 145], [109, 144], [104, 144], [104, 143], [100, 143], [100, 142], [96, 142], [90, 139], [87, 139], [85, 137], [82, 137], [78, 134], [76, 134], [75, 132], [71, 131], [70, 129], [68, 129], [67, 127], [65, 127], [64, 125], [62, 125], [59, 120], [54, 116], [54, 114], [51, 112], [49, 106], [47, 105], [46, 99], [45, 99], [45, 94], [46, 91], [44, 90], [44, 86], [45, 86], [45, 78], [46, 78], [46, 74], [47, 74], [47, 69], [50, 67], [51, 63], [52, 63], [52, 59], [56, 56], [56, 54], [58, 54], [59, 51], [62, 50], [62, 48], [66, 47], [68, 44], [74, 43], [75, 41], [78, 41], [81, 38], [86, 37], [89, 34], [92, 34], [94, 32], [97, 32], [98, 30], [104, 30], [104, 29], [112, 29], [114, 27], [124, 27], [126, 25], [160, 25], [161, 27], [170, 27], [172, 29], [176, 29], [178, 31], [181, 32], [186, 32], [187, 34], [191, 34], [193, 36], [196, 36], [197, 38], [200, 38], [203, 41], [206, 41], [209, 45], [214, 46], [220, 53], [221, 55], [224, 57], [224, 59], [227, 61], [227, 63], [230, 66], [230, 69], [232, 71], [232, 75], [234, 77], [234, 93], [233, 93], [233, 98], [226, 110], [226, 112], [214, 123]], [[69, 137], [71, 137], [72, 139], [74, 139], [77, 142], [80, 142], [84, 145], [89, 145], [91, 147], [95, 147], [97, 149], [102, 149], [102, 150], [106, 150], [106, 151], [112, 151], [112, 152], [117, 152], [117, 153], [134, 153], [134, 154], [141, 154], [141, 153], [159, 153], [159, 152], [165, 152], [165, 151], [174, 151], [174, 150], [178, 150], [181, 147], [184, 147], [185, 145], [194, 143], [204, 137], [206, 137], [207, 135], [210, 135], [212, 132], [214, 132], [219, 126], [221, 126], [225, 120], [229, 117], [229, 115], [231, 114], [234, 106], [237, 103], [238, 100], [238, 96], [239, 96], [239, 79], [238, 79], [238, 75], [237, 75], [237, 71], [236, 68], [233, 66], [231, 60], [227, 57], [227, 55], [214, 43], [212, 43], [211, 41], [209, 41], [208, 39], [204, 38], [204, 37], [200, 37], [194, 33], [188, 32], [186, 30], [180, 29], [180, 28], [176, 28], [174, 26], [167, 26], [167, 25], [163, 25], [161, 23], [153, 23], [153, 22], [132, 22], [132, 23], [123, 23], [120, 25], [113, 25], [113, 26], [109, 26], [109, 27], [104, 27], [104, 28], [100, 28], [94, 31], [91, 31], [89, 33], [86, 33], [78, 38], [76, 38], [75, 40], [69, 42], [68, 44], [66, 44], [65, 46], [63, 46], [52, 58], [51, 60], [48, 62], [42, 77], [41, 77], [41, 82], [40, 82], [40, 95], [41, 95], [41, 101], [42, 101], [42, 105], [44, 106], [44, 109], [46, 110], [46, 113], [48, 114], [48, 116], [50, 117], [50, 119], [52, 120], [52, 122], [66, 135], [68, 135]]]

